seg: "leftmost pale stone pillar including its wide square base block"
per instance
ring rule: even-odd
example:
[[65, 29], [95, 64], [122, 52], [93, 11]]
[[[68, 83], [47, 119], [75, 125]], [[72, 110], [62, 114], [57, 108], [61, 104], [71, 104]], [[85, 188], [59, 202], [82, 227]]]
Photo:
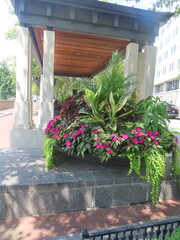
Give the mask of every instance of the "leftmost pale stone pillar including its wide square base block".
[[31, 37], [27, 27], [17, 27], [16, 101], [11, 148], [42, 147], [43, 132], [32, 121]]

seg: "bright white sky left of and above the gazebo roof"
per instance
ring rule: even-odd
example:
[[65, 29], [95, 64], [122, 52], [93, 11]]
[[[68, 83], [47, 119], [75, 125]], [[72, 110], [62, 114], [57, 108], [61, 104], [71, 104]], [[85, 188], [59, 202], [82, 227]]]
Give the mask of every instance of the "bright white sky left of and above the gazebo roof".
[[[127, 5], [126, 0], [110, 0], [111, 3]], [[148, 9], [152, 6], [153, 0], [141, 0], [137, 4], [137, 8]], [[128, 6], [131, 6], [131, 2]], [[14, 27], [17, 22], [17, 17], [9, 12], [6, 0], [0, 0], [0, 61], [16, 55], [15, 40], [6, 40], [5, 32]]]

